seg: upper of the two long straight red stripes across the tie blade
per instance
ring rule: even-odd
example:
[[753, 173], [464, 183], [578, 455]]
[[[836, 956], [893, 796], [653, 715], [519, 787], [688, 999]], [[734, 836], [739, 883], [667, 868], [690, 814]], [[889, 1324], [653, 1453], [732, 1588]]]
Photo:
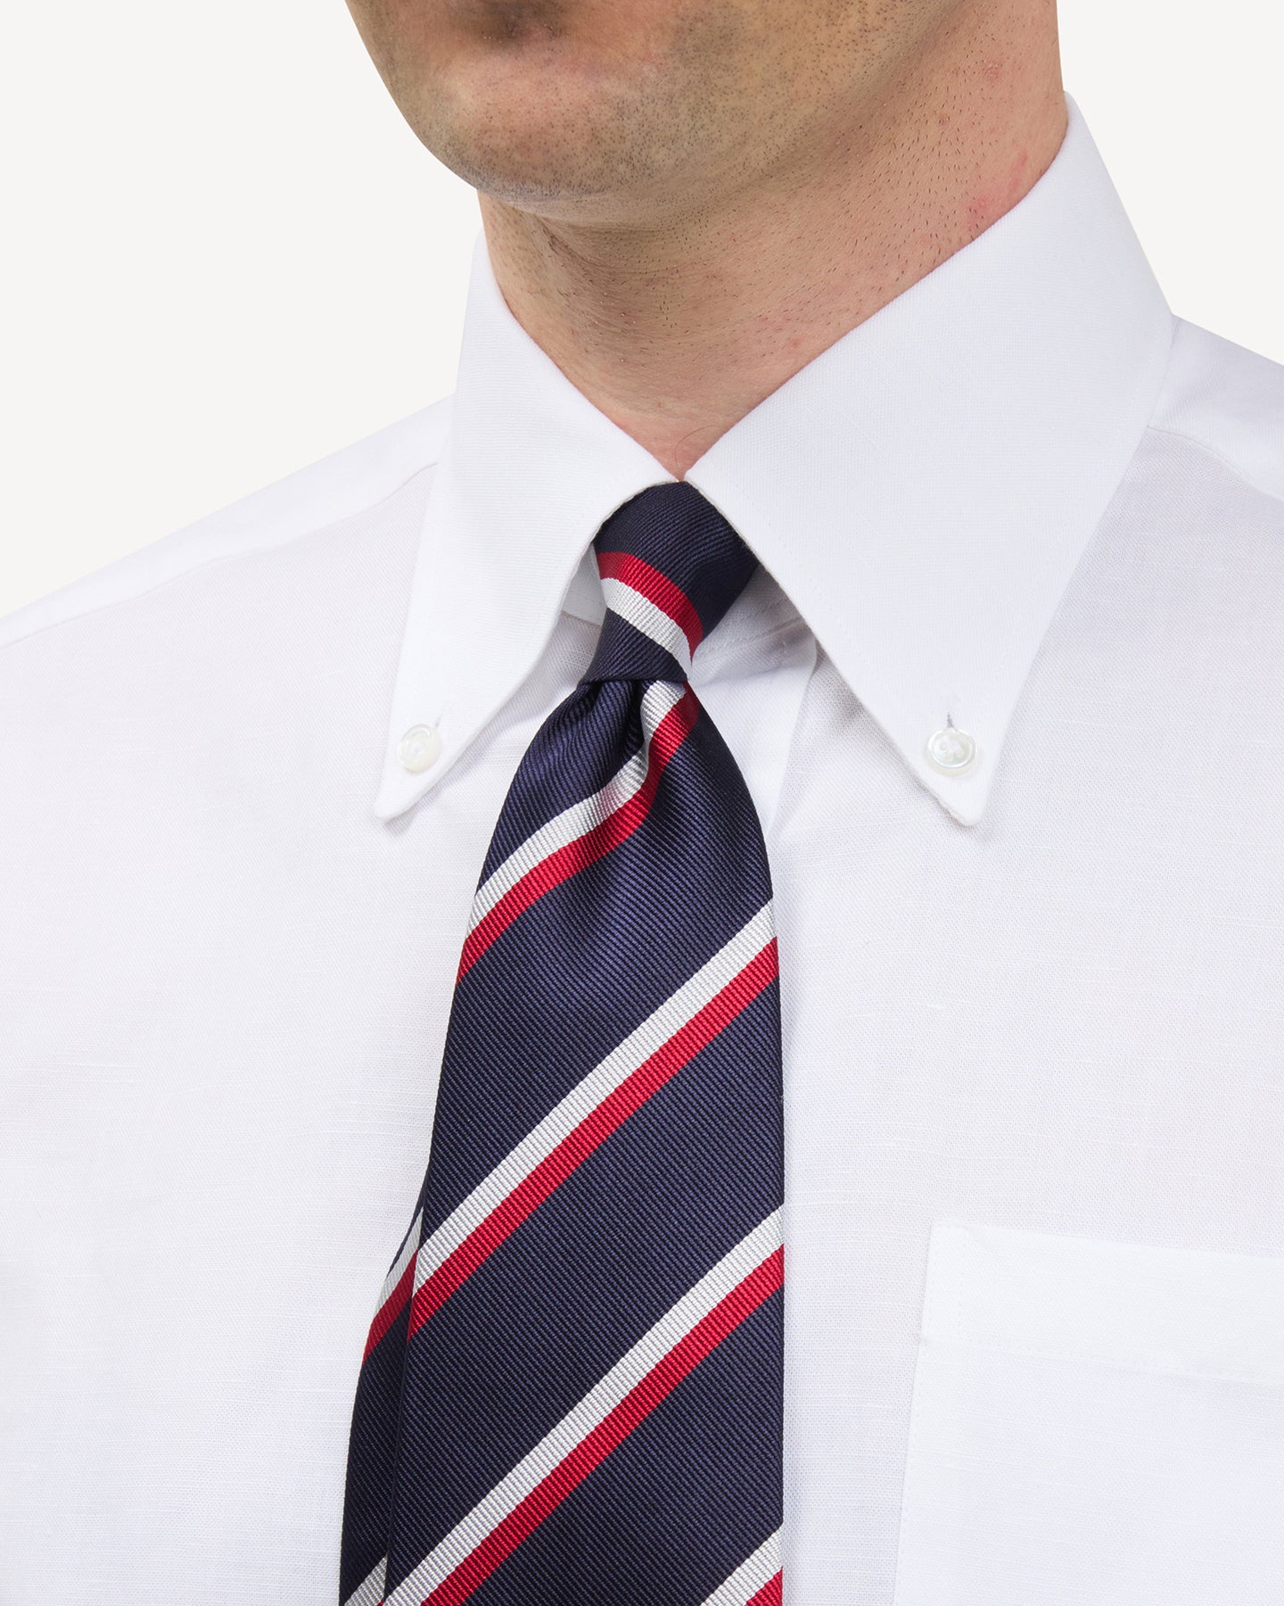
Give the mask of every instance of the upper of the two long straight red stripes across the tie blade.
[[677, 1028], [668, 1042], [644, 1060], [632, 1074], [615, 1087], [568, 1132], [499, 1204], [478, 1222], [464, 1241], [446, 1256], [416, 1291], [411, 1306], [408, 1338], [449, 1299], [478, 1266], [533, 1214], [544, 1200], [570, 1177], [612, 1132], [640, 1110], [669, 1078], [689, 1065], [697, 1054], [748, 1009], [778, 973], [778, 951], [772, 938], [761, 952], [738, 970], [703, 1009]]

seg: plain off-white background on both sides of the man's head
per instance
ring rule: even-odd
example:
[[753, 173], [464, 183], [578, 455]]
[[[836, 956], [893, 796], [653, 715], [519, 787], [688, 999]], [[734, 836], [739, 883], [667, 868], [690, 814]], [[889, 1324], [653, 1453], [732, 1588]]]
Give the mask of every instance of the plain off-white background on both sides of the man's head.
[[[1284, 13], [1061, 26], [1168, 300], [1284, 361]], [[0, 615], [451, 389], [475, 199], [342, 0], [18, 6], [0, 153]]]

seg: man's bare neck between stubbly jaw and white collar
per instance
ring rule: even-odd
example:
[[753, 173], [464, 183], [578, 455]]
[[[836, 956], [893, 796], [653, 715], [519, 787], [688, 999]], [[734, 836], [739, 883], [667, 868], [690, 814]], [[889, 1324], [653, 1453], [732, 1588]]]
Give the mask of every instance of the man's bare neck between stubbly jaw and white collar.
[[963, 8], [836, 148], [663, 226], [482, 198], [514, 316], [671, 474], [1010, 210], [1066, 104], [1051, 13]]

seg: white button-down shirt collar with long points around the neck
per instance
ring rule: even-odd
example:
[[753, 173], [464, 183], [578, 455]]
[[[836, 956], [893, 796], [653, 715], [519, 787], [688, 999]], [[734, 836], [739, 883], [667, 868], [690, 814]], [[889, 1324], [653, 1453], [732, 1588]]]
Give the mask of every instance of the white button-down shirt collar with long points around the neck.
[[[1048, 172], [976, 241], [722, 435], [687, 479], [963, 824], [1159, 395], [1172, 316], [1071, 103]], [[671, 474], [507, 310], [478, 239], [376, 811], [449, 772], [530, 675], [592, 536]], [[427, 724], [440, 758], [398, 760]], [[960, 774], [933, 732], [976, 744]]]

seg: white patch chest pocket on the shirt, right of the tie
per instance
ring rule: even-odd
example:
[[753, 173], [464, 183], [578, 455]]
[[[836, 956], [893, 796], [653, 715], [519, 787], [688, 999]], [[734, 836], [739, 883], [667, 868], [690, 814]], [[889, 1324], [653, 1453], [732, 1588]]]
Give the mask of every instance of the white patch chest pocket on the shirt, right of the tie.
[[1284, 1259], [937, 1224], [896, 1606], [1284, 1601]]

